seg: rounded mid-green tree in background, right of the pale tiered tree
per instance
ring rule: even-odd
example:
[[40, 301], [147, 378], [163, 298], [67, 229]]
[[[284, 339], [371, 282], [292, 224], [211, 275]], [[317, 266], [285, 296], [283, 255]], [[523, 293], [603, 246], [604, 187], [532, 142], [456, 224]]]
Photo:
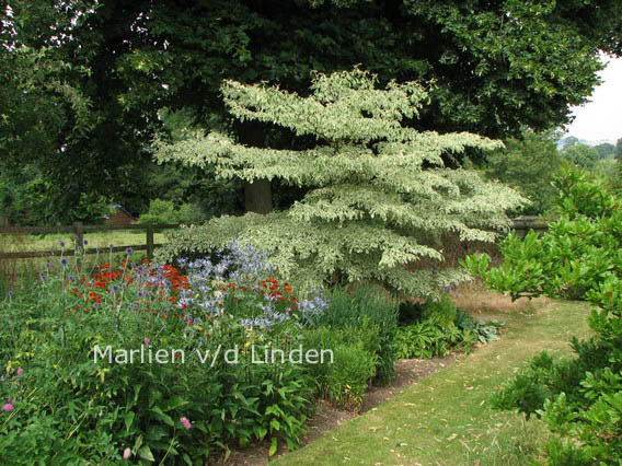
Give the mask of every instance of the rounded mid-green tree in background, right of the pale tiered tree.
[[557, 194], [553, 177], [562, 167], [554, 135], [527, 131], [520, 139], [506, 140], [505, 145], [487, 158], [486, 176], [529, 198], [531, 203], [516, 213], [537, 215], [550, 211]]

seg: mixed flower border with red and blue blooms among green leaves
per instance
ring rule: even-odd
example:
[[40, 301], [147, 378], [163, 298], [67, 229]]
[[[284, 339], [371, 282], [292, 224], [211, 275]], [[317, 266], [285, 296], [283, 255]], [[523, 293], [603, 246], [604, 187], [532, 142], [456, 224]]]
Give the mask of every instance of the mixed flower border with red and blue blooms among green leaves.
[[[0, 459], [204, 464], [263, 439], [270, 453], [279, 441], [295, 447], [316, 383], [301, 364], [254, 363], [252, 349], [296, 348], [307, 313], [320, 314], [321, 303], [299, 301], [261, 255], [235, 245], [218, 265], [186, 264], [187, 276], [147, 261], [133, 267], [127, 253], [118, 269], [94, 272], [80, 257], [62, 258], [31, 293], [0, 302]], [[239, 361], [207, 359], [219, 346], [239, 348]], [[119, 349], [171, 358], [122, 363]]]

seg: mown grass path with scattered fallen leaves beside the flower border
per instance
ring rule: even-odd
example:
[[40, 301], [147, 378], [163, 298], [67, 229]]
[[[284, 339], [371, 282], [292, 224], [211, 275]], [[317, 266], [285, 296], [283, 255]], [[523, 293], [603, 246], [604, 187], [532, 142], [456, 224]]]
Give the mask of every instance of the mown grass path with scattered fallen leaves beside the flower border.
[[542, 423], [492, 412], [488, 397], [541, 350], [568, 354], [571, 337], [588, 335], [587, 315], [577, 303], [556, 303], [534, 315], [507, 314], [509, 328], [500, 340], [274, 464], [530, 464], [548, 435]]

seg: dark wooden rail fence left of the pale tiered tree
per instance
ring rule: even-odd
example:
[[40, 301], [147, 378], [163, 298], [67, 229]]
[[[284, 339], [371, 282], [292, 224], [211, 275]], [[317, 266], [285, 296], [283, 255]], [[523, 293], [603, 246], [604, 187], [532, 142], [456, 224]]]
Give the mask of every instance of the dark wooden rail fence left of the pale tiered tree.
[[[31, 257], [48, 257], [48, 256], [72, 256], [79, 251], [82, 254], [97, 254], [106, 253], [122, 253], [128, 247], [133, 251], [147, 251], [147, 258], [153, 258], [153, 249], [160, 244], [154, 244], [153, 234], [157, 231], [176, 229], [178, 224], [128, 224], [128, 225], [84, 225], [82, 222], [74, 222], [71, 226], [3, 226], [0, 228], [0, 234], [56, 234], [56, 233], [72, 233], [74, 236], [76, 248], [69, 249], [47, 249], [47, 251], [28, 251], [28, 252], [13, 252], [1, 253], [0, 260], [2, 259], [25, 259]], [[119, 231], [119, 230], [145, 230], [146, 243], [145, 244], [128, 244], [123, 246], [112, 247], [85, 247], [84, 233], [102, 232], [102, 231]]]

